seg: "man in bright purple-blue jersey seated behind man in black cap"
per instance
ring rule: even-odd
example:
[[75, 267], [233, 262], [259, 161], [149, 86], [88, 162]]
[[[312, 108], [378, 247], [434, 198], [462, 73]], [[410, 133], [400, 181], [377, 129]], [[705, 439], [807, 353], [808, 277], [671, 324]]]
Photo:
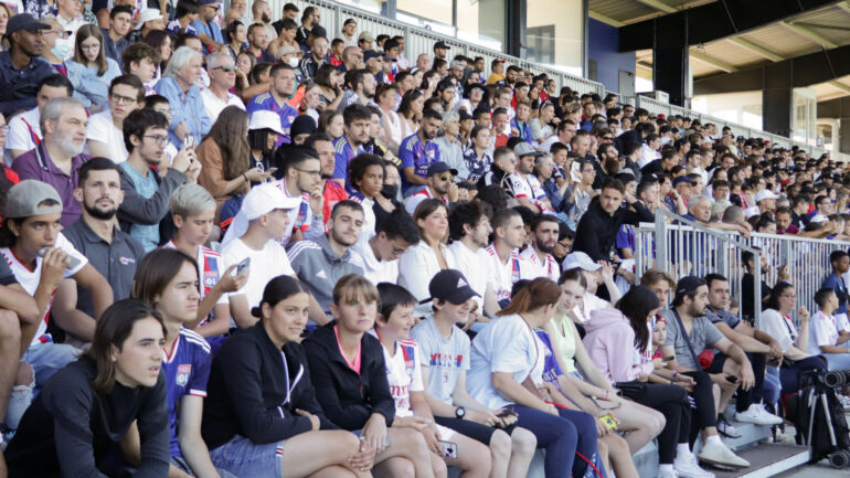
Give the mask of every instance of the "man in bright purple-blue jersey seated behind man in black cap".
[[427, 185], [428, 167], [439, 161], [439, 147], [432, 141], [443, 125], [439, 113], [428, 109], [422, 115], [419, 130], [404, 138], [399, 147], [399, 158], [402, 160], [402, 189], [405, 195], [411, 191]]

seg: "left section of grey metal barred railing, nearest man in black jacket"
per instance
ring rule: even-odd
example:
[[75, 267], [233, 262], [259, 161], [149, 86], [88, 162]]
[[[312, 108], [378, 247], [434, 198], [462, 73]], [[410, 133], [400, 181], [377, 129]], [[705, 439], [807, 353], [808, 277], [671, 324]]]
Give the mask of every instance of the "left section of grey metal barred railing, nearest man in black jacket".
[[[743, 253], [753, 254], [761, 263], [761, 252], [725, 231], [712, 230], [672, 214], [656, 210], [655, 223], [635, 227], [635, 276], [639, 279], [648, 269], [670, 274], [674, 280], [684, 276], [705, 277], [722, 274], [729, 279], [733, 306], [744, 310]], [[752, 320], [758, 327], [762, 307], [761, 287], [753, 287]], [[741, 314], [741, 312], [739, 312]]]

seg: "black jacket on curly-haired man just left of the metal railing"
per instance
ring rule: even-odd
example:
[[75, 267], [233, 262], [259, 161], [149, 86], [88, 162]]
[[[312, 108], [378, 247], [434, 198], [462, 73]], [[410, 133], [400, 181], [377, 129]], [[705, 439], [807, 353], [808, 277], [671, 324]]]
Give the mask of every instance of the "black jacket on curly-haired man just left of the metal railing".
[[620, 208], [614, 215], [608, 215], [602, 209], [598, 196], [594, 198], [575, 229], [573, 251], [586, 253], [594, 262], [609, 261], [617, 231], [623, 224], [655, 221], [655, 214], [640, 202], [635, 202], [634, 208], [634, 211], [630, 206]]

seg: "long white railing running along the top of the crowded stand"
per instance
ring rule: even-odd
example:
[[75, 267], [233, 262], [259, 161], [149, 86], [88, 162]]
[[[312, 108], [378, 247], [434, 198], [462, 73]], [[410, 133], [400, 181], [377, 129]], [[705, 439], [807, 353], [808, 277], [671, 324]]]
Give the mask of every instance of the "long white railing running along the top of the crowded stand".
[[[270, 0], [272, 11], [275, 14], [283, 11], [283, 6], [287, 0]], [[523, 70], [534, 72], [535, 74], [546, 73], [551, 78], [555, 79], [559, 85], [559, 89], [562, 86], [569, 86], [572, 89], [580, 93], [597, 93], [599, 96], [604, 96], [606, 91], [602, 83], [594, 82], [581, 76], [571, 75], [560, 70], [553, 68], [549, 65], [528, 62], [516, 56], [506, 55], [504, 53], [486, 49], [479, 45], [470, 44], [467, 41], [460, 40], [456, 36], [449, 36], [436, 33], [432, 30], [414, 26], [404, 22], [395, 21], [373, 12], [362, 10], [349, 4], [337, 3], [331, 0], [290, 0], [298, 6], [301, 10], [305, 7], [312, 6], [318, 7], [321, 12], [321, 25], [328, 31], [328, 36], [333, 39], [338, 36], [342, 30], [342, 23], [346, 19], [353, 18], [358, 21], [359, 32], [370, 32], [378, 36], [381, 33], [387, 35], [404, 35], [405, 38], [405, 57], [414, 64], [416, 56], [422, 53], [433, 53], [434, 43], [437, 41], [444, 41], [455, 52], [463, 52], [467, 56], [481, 56], [485, 59], [485, 64], [490, 65], [490, 62], [495, 59], [506, 60], [510, 64], [518, 65]], [[771, 132], [747, 128], [734, 123], [725, 121], [721, 118], [715, 118], [710, 115], [703, 115], [692, 109], [682, 108], [680, 106], [669, 105], [663, 102], [659, 102], [647, 96], [638, 95], [636, 97], [621, 97], [620, 103], [629, 104], [636, 107], [646, 108], [652, 114], [663, 114], [665, 116], [682, 115], [690, 118], [699, 118], [702, 124], [713, 123], [718, 125], [718, 128], [729, 126], [736, 136], [744, 136], [747, 138], [763, 138], [771, 141], [772, 145], [779, 145], [785, 148], [797, 146], [801, 150], [810, 153], [812, 157], [820, 157], [825, 152], [830, 152], [831, 158], [841, 161], [850, 161], [850, 155], [844, 155], [836, 151], [827, 151], [824, 148], [809, 146], [803, 142], [791, 141], [786, 137], [774, 135]]]

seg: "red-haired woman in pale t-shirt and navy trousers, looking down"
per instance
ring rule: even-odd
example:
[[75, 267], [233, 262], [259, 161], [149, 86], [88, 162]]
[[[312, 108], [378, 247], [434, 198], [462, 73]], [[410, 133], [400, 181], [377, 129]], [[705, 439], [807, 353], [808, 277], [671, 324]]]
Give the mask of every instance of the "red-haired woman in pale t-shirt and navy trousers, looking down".
[[[546, 346], [533, 333], [555, 314], [561, 289], [539, 277], [512, 297], [472, 340], [467, 390], [489, 407], [511, 407], [517, 426], [538, 438], [546, 450], [546, 478], [596, 476], [588, 461], [597, 459], [596, 424], [591, 415], [556, 407], [539, 387], [543, 386]], [[582, 457], [578, 458], [577, 455]]]

